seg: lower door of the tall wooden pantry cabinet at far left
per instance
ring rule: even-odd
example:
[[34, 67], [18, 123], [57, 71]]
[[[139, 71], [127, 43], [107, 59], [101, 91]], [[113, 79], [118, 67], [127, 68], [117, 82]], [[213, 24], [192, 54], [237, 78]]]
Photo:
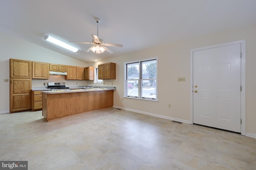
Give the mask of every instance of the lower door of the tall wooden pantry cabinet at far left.
[[10, 112], [31, 109], [31, 79], [10, 79]]

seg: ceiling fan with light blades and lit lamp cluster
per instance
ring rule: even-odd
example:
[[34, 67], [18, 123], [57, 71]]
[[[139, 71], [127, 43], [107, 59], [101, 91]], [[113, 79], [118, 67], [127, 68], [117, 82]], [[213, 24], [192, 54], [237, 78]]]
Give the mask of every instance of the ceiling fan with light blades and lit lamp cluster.
[[108, 49], [105, 46], [112, 46], [112, 47], [123, 47], [121, 44], [115, 44], [115, 43], [104, 43], [102, 39], [98, 38], [98, 24], [100, 22], [100, 18], [95, 18], [97, 22], [97, 36], [92, 35], [92, 42], [74, 42], [74, 41], [69, 41], [73, 43], [88, 43], [88, 44], [93, 44], [92, 47], [86, 50], [86, 52], [89, 52], [90, 50], [94, 53], [100, 54], [103, 53], [105, 50], [108, 51], [108, 53], [112, 54], [113, 51]]

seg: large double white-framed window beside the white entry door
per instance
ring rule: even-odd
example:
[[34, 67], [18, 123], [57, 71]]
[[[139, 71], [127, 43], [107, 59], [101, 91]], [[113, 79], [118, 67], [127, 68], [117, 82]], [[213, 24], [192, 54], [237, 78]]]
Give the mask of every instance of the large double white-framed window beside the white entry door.
[[157, 59], [126, 63], [125, 96], [156, 100]]

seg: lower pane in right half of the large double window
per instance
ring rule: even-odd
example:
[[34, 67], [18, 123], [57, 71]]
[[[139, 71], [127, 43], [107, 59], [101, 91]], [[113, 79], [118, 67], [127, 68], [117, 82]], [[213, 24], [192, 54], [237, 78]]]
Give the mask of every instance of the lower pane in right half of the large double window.
[[142, 80], [142, 98], [156, 99], [156, 80]]

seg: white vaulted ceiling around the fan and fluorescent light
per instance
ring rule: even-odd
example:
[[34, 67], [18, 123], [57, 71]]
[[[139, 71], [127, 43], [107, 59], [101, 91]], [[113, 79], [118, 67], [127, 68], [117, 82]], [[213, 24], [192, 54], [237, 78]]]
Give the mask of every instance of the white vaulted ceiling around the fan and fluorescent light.
[[[114, 53], [85, 52], [97, 35]], [[256, 0], [0, 0], [0, 29], [86, 63], [256, 23]], [[48, 34], [81, 51], [46, 42]]]

